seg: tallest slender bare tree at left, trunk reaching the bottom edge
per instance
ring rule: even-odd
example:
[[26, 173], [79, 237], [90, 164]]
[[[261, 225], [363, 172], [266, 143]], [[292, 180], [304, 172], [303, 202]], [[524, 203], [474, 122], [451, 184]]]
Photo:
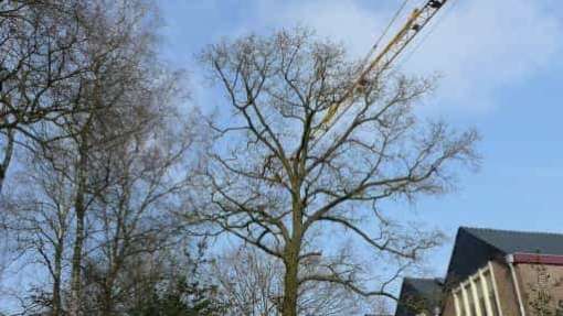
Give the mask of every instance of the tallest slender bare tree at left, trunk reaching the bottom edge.
[[[70, 164], [74, 166], [71, 177], [75, 186], [76, 219], [71, 264], [71, 315], [81, 314], [87, 210], [97, 206], [105, 189], [119, 181], [114, 168], [117, 164], [111, 160], [115, 155], [108, 157], [107, 153], [116, 151], [119, 144], [135, 145], [127, 140], [139, 131], [147, 133], [153, 127], [158, 120], [155, 113], [166, 111], [166, 106], [158, 102], [167, 102], [167, 94], [173, 90], [173, 87], [162, 85], [171, 81], [153, 59], [153, 29], [148, 23], [150, 11], [142, 4], [141, 1], [117, 1], [109, 6], [105, 1], [95, 1], [83, 11], [83, 19], [88, 22], [84, 54], [91, 66], [87, 76], [78, 83], [79, 94], [74, 100], [89, 111], [75, 115], [64, 123], [71, 135], [64, 141], [70, 143], [68, 152], [76, 157]], [[167, 80], [160, 80], [162, 77]], [[162, 88], [164, 92], [159, 91]]]

